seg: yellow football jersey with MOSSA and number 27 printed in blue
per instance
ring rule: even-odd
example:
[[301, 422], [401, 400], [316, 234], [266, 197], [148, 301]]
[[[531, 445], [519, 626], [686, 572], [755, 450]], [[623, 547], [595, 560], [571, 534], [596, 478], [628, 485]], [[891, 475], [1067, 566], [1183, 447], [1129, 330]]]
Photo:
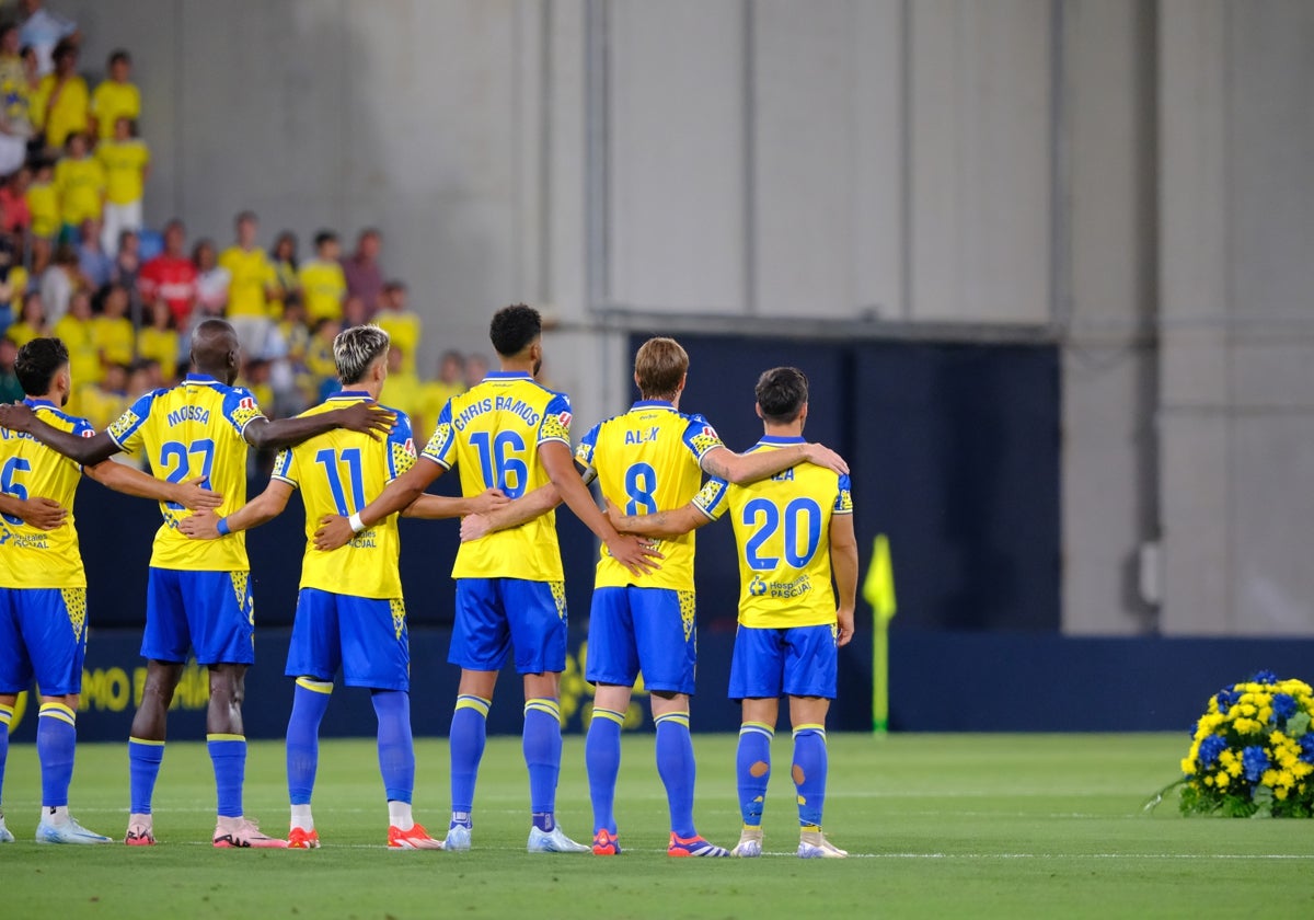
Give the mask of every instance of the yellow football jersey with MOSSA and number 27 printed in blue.
[[[152, 390], [134, 402], [109, 426], [109, 436], [127, 453], [145, 451], [155, 476], [183, 482], [209, 477], [210, 489], [223, 495], [218, 517], [246, 505], [247, 443], [242, 431], [264, 413], [251, 390], [227, 386], [214, 377], [189, 373], [173, 389]], [[177, 522], [191, 514], [160, 502], [164, 524], [155, 534], [151, 565], [194, 572], [243, 572], [251, 568], [246, 535], [231, 540], [189, 540]]]

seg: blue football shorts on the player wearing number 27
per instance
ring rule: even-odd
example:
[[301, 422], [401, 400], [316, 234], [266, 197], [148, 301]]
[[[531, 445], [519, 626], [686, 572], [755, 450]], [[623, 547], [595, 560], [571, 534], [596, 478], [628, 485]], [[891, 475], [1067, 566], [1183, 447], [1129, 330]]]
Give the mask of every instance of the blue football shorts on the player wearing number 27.
[[142, 657], [197, 664], [255, 664], [250, 572], [183, 572], [151, 566], [146, 580]]

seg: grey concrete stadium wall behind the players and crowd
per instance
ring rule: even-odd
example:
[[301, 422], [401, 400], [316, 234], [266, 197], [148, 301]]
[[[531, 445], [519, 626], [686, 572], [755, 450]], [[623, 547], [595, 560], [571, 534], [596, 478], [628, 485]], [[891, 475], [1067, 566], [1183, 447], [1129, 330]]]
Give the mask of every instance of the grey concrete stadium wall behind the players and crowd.
[[633, 330], [1055, 342], [1064, 631], [1314, 632], [1307, 3], [55, 7], [150, 219], [380, 225], [428, 361], [544, 305], [585, 423]]

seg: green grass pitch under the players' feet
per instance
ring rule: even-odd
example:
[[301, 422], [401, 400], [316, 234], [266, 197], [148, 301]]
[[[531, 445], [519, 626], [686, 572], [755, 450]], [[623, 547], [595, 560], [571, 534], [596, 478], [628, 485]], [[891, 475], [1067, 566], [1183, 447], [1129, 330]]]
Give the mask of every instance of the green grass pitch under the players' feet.
[[[715, 842], [738, 836], [735, 739], [695, 735], [696, 817]], [[1185, 733], [830, 736], [827, 833], [853, 856], [804, 861], [790, 741], [774, 747], [761, 860], [670, 860], [650, 736], [625, 739], [619, 858], [530, 856], [519, 739], [490, 739], [470, 853], [388, 852], [368, 740], [321, 750], [314, 852], [215, 850], [204, 745], [168, 747], [155, 800], [160, 845], [32, 842], [35, 750], [9, 752], [4, 806], [18, 842], [0, 846], [4, 917], [870, 917], [1314, 916], [1314, 821], [1141, 814], [1177, 774]], [[126, 745], [78, 752], [72, 811], [122, 835]], [[417, 744], [415, 815], [445, 827], [447, 744]], [[286, 828], [283, 748], [251, 745], [246, 803]], [[590, 835], [583, 741], [566, 739], [558, 816]]]

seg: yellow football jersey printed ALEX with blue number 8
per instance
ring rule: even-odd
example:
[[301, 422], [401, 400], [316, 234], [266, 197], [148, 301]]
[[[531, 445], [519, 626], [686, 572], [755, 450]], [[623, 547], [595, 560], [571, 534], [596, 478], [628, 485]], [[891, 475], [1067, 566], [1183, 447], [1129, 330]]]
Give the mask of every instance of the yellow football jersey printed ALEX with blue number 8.
[[[602, 494], [625, 514], [654, 514], [692, 501], [703, 482], [703, 456], [724, 447], [702, 415], [686, 415], [664, 401], [645, 400], [624, 415], [594, 426], [576, 448], [576, 460], [598, 471]], [[694, 532], [662, 540], [661, 568], [633, 576], [602, 548], [598, 587], [694, 590]]]

